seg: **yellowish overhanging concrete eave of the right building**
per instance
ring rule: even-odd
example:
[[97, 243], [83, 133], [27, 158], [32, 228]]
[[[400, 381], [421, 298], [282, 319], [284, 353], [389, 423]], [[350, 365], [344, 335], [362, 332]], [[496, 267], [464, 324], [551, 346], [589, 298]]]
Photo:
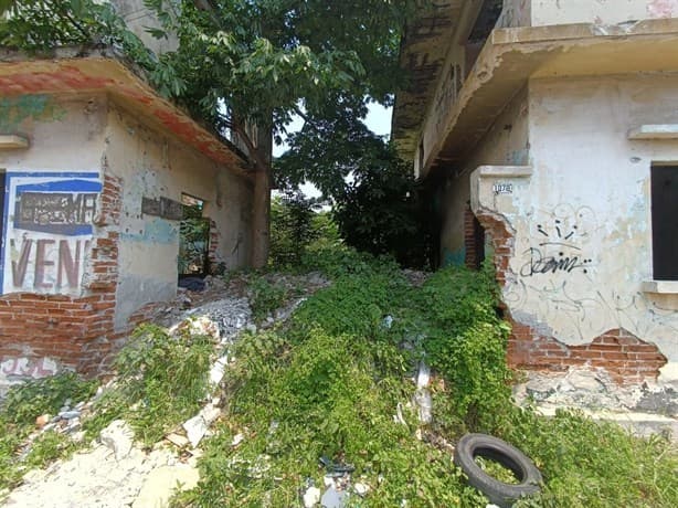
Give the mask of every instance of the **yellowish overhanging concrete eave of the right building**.
[[438, 81], [419, 173], [464, 159], [530, 78], [671, 71], [678, 72], [678, 19], [496, 29], [446, 108], [439, 105], [452, 84]]

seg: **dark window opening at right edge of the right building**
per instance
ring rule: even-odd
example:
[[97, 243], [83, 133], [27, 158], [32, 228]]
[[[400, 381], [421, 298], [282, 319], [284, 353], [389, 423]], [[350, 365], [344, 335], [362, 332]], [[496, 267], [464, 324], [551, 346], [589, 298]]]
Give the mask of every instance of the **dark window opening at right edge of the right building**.
[[653, 166], [653, 277], [678, 281], [678, 166]]

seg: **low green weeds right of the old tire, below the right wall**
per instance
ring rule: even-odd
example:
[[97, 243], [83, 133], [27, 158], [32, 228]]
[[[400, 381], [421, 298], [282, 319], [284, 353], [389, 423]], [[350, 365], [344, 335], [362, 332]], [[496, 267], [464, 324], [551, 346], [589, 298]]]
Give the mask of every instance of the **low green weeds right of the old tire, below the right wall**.
[[545, 487], [519, 507], [672, 507], [678, 454], [665, 437], [632, 436], [613, 423], [571, 411], [550, 419], [507, 408], [496, 431], [540, 467]]

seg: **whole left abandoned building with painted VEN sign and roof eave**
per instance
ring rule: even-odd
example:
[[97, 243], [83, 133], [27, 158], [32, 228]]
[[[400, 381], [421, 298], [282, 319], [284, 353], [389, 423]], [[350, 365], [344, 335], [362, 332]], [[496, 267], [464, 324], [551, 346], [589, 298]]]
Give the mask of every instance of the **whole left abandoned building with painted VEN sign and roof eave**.
[[250, 262], [244, 157], [112, 54], [0, 57], [6, 380], [95, 372], [148, 304], [172, 298], [184, 207], [205, 221], [200, 263]]

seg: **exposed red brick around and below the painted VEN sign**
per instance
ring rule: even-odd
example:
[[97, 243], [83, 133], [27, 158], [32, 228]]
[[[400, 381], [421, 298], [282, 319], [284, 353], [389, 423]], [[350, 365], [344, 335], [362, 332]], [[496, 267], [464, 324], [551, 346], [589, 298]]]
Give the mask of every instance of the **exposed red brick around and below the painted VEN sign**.
[[86, 296], [0, 296], [0, 359], [50, 357], [86, 374], [99, 369], [121, 338], [113, 330], [119, 213], [120, 181], [106, 176], [83, 281]]

